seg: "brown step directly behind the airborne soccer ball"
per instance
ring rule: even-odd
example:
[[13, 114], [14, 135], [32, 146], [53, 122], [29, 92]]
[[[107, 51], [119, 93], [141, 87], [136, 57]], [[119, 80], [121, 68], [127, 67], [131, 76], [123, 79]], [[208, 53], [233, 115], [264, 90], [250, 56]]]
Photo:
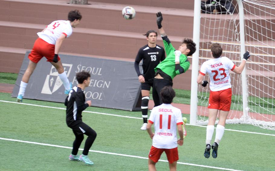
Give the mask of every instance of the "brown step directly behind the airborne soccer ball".
[[125, 20], [121, 14], [125, 4], [89, 3], [76, 7], [63, 0], [0, 0], [0, 20], [48, 25], [54, 20], [67, 20], [68, 11], [78, 9], [82, 14], [79, 27], [146, 33], [157, 30], [156, 13], [161, 11], [168, 35], [193, 37], [193, 10], [135, 5], [136, 17]]

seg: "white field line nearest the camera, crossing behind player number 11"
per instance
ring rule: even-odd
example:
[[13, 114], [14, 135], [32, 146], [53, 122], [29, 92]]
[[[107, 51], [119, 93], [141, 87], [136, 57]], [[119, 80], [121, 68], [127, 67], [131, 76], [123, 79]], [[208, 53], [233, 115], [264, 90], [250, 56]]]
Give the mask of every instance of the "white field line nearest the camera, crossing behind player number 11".
[[[59, 148], [68, 148], [68, 149], [72, 149], [72, 147], [66, 147], [66, 146], [62, 146], [62, 145], [52, 145], [52, 144], [45, 144], [45, 143], [31, 142], [31, 141], [22, 141], [22, 140], [1, 138], [1, 137], [0, 137], [0, 139], [2, 139], [2, 140], [7, 140], [7, 141], [24, 142], [24, 143], [36, 144], [36, 145], [45, 145], [45, 146], [50, 146], [50, 147], [59, 147]], [[79, 150], [82, 150], [82, 151], [83, 151], [83, 148], [79, 148]], [[140, 157], [140, 156], [127, 155], [127, 154], [110, 153], [110, 152], [96, 151], [96, 150], [89, 150], [89, 151], [95, 152], [95, 153], [112, 154], [112, 155], [117, 155], [117, 156], [134, 157], [134, 158], [140, 158], [140, 159], [147, 159], [147, 160], [148, 160], [148, 157]], [[159, 160], [159, 161], [168, 162], [167, 160]], [[184, 164], [184, 165], [190, 165], [190, 166], [199, 166], [199, 167], [220, 169], [220, 170], [241, 171], [241, 170], [227, 169], [227, 168], [222, 168], [222, 167], [205, 166], [205, 165], [200, 165], [200, 164], [183, 163], [183, 162], [177, 162], [177, 163], [178, 163], [178, 164]]]

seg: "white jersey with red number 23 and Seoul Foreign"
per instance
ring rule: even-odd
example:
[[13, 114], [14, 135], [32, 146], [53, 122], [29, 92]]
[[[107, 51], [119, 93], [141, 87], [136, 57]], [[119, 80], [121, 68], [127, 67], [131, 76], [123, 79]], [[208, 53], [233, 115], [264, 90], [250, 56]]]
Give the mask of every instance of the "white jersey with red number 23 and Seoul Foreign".
[[235, 64], [224, 56], [205, 61], [199, 73], [203, 76], [208, 73], [210, 90], [216, 92], [231, 88], [229, 70], [233, 71], [235, 67]]

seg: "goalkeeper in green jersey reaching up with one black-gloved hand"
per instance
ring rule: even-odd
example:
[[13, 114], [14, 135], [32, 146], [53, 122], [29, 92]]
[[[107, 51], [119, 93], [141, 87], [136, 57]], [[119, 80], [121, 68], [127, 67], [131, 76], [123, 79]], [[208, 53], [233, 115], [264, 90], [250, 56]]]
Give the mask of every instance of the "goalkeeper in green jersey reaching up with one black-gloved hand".
[[187, 56], [196, 51], [196, 43], [192, 39], [185, 38], [182, 45], [176, 50], [163, 30], [161, 21], [163, 20], [161, 12], [157, 13], [157, 26], [163, 39], [166, 58], [155, 68], [155, 77], [153, 83], [153, 100], [155, 106], [162, 104], [160, 90], [165, 86], [173, 86], [173, 78], [188, 70], [190, 62]]

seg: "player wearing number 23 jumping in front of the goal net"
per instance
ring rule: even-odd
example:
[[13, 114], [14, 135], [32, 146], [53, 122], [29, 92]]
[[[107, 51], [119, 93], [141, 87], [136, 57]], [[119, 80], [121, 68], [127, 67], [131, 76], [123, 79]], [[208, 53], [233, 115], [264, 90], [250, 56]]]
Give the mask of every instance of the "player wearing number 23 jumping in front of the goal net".
[[214, 133], [214, 125], [219, 112], [219, 121], [216, 127], [215, 142], [212, 145], [212, 157], [216, 158], [218, 153], [218, 145], [222, 139], [225, 130], [225, 120], [231, 106], [231, 79], [229, 70], [236, 74], [241, 74], [247, 59], [250, 57], [249, 52], [244, 53], [244, 58], [240, 66], [236, 66], [227, 57], [222, 57], [222, 47], [219, 43], [212, 43], [210, 46], [213, 59], [205, 61], [199, 71], [197, 83], [205, 87], [208, 81], [202, 81], [206, 73], [210, 78], [210, 96], [209, 96], [209, 119], [206, 127], [206, 148], [204, 152], [205, 158], [209, 158], [211, 149], [211, 140]]

